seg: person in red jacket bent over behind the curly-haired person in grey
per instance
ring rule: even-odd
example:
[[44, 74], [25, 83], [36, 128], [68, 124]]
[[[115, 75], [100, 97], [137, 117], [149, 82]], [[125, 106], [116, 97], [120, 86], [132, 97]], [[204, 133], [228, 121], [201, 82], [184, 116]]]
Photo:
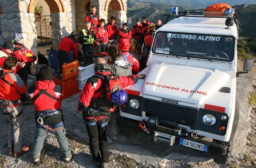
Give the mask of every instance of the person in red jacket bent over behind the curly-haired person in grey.
[[122, 52], [122, 58], [129, 62], [132, 67], [132, 73], [137, 74], [140, 69], [140, 64], [137, 58], [133, 57], [132, 54], [129, 53], [130, 43], [129, 40], [126, 38], [121, 38], [118, 41], [119, 48]]

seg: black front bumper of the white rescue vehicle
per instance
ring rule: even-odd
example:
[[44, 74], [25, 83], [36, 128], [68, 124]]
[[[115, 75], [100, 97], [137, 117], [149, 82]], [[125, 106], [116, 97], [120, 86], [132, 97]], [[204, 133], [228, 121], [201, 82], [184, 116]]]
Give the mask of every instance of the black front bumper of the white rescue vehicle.
[[[147, 132], [143, 131], [139, 127], [139, 121], [135, 121], [135, 120], [131, 121], [131, 120], [125, 120], [123, 118], [120, 118], [120, 119], [117, 120], [117, 124], [118, 124], [119, 127], [130, 128], [134, 131], [141, 132], [141, 133], [144, 133], [144, 134], [148, 134]], [[153, 130], [153, 129], [150, 129], [150, 128], [147, 128], [147, 130], [152, 135], [154, 135], [154, 131], [156, 131], [156, 130]], [[166, 134], [166, 133], [164, 133], [164, 134]], [[227, 146], [217, 144], [217, 143], [214, 143], [214, 142], [209, 142], [209, 141], [202, 140], [202, 139], [187, 138], [187, 137], [181, 137], [181, 136], [177, 136], [177, 135], [170, 135], [170, 137], [175, 138], [175, 143], [179, 143], [180, 138], [182, 138], [182, 139], [190, 140], [190, 141], [201, 143], [201, 144], [206, 144], [206, 145], [209, 146], [207, 153], [225, 154], [226, 150], [227, 150]], [[159, 138], [159, 139], [161, 140], [163, 138]], [[167, 142], [168, 140], [164, 140], [164, 141]], [[170, 145], [172, 145], [172, 144], [170, 143]]]

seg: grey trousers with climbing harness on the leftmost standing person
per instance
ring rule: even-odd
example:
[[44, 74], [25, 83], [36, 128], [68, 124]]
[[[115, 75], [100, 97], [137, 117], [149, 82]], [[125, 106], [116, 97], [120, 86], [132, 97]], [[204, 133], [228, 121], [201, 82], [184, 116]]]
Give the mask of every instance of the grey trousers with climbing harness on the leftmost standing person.
[[11, 122], [9, 123], [9, 132], [8, 132], [8, 147], [14, 147], [14, 152], [22, 151], [22, 126], [24, 123], [24, 114], [22, 113], [17, 118], [12, 117], [12, 112], [15, 115], [18, 115], [22, 112], [22, 105], [16, 107], [7, 107], [1, 106], [1, 110]]

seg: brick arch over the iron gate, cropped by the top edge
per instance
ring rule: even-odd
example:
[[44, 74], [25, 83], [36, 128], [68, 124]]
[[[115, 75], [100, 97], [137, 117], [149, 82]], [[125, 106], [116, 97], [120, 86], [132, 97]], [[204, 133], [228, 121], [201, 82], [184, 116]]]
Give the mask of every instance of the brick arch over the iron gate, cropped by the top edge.
[[[51, 13], [65, 12], [62, 0], [44, 0], [50, 7]], [[28, 5], [28, 13], [34, 13], [34, 9], [38, 0], [31, 0]]]

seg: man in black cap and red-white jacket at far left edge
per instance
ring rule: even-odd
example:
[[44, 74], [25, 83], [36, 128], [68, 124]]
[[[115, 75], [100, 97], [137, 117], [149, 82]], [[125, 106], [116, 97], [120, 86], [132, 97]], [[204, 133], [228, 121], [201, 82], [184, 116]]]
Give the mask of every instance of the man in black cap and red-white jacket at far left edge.
[[[14, 44], [11, 40], [7, 40], [4, 42], [4, 45], [0, 49], [0, 68], [3, 68], [4, 66], [4, 60], [7, 57], [11, 56], [11, 53], [13, 52]], [[24, 62], [18, 62], [18, 66], [15, 68], [13, 73], [17, 73], [21, 68], [25, 66]]]

